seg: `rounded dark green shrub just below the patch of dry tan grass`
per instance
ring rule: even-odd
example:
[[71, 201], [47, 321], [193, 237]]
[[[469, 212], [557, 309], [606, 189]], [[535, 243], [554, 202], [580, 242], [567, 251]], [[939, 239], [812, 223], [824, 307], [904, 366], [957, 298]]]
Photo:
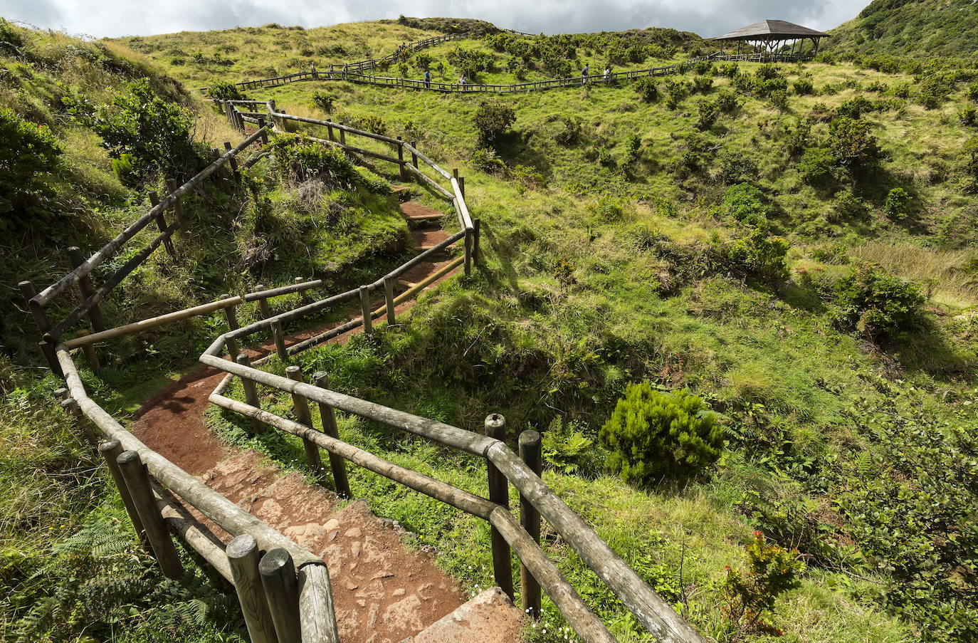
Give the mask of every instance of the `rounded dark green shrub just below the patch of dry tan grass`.
[[839, 279], [832, 303], [842, 330], [873, 341], [898, 340], [925, 328], [920, 289], [877, 265], [861, 264]]

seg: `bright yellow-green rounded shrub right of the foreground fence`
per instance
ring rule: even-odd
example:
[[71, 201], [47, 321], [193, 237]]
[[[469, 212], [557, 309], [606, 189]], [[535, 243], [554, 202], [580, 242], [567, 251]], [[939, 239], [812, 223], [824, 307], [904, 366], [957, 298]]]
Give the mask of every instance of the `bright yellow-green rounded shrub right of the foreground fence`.
[[631, 384], [599, 438], [608, 466], [626, 482], [686, 478], [716, 462], [724, 430], [702, 399], [688, 390], [660, 392]]

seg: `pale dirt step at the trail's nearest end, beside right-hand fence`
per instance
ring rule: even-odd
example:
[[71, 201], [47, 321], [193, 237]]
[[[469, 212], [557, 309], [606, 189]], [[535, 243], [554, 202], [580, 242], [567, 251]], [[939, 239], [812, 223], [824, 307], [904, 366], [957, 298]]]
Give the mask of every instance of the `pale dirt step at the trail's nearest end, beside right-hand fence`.
[[513, 643], [524, 624], [510, 597], [492, 587], [401, 643]]

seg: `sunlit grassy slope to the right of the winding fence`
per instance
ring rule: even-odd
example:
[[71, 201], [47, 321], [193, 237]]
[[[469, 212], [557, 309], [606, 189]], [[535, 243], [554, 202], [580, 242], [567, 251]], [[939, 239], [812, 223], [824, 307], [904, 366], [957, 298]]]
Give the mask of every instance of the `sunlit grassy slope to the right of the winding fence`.
[[[353, 26], [378, 34], [388, 28]], [[197, 34], [188, 40], [211, 37], [218, 35]], [[441, 56], [448, 49], [431, 53]], [[285, 64], [281, 57], [264, 61], [276, 69]], [[845, 65], [784, 70], [789, 79], [805, 75], [817, 89], [832, 89], [818, 97], [791, 96], [787, 115], [741, 97], [739, 112], [722, 116], [711, 136], [724, 150], [757, 163], [758, 182], [778, 207], [776, 225], [792, 241], [793, 266], [840, 274], [848, 268], [823, 263], [813, 251], [841, 242], [850, 252], [880, 258], [906, 277], [937, 278], [932, 304], [942, 312], [973, 306], [973, 280], [952, 269], [974, 256], [961, 250], [970, 243], [965, 235], [974, 215], [971, 201], [948, 171], [958, 162], [962, 128], [953, 115], [962, 94], [937, 111], [909, 103], [900, 111], [867, 115], [888, 158], [881, 175], [857, 187], [867, 210], [852, 217], [832, 198], [841, 186], [826, 194], [799, 180], [782, 152], [782, 126], [818, 103], [838, 106], [872, 81], [895, 85], [912, 79]], [[197, 71], [189, 73], [200, 77], [201, 84], [207, 79]], [[235, 79], [224, 73], [213, 77], [218, 76]], [[449, 72], [446, 76], [451, 78]], [[485, 79], [506, 76], [486, 74]], [[716, 80], [718, 87], [725, 83]], [[316, 114], [311, 97], [322, 90], [338, 95], [333, 117], [378, 115], [390, 131], [420, 139], [434, 158], [465, 168], [475, 143], [471, 116], [481, 97], [336, 83], [296, 83], [255, 96], [275, 98], [292, 113]], [[568, 89], [504, 100], [515, 109], [517, 121], [516, 132], [501, 146], [502, 157], [511, 167], [524, 165], [540, 173], [547, 185], [520, 180], [525, 172], [501, 180], [465, 170], [469, 201], [484, 222], [488, 270], [466, 289], [448, 288], [426, 299], [403, 333], [385, 336], [379, 345], [358, 341], [313, 351], [303, 358], [306, 366], [328, 368], [341, 390], [472, 430], [479, 429], [486, 412], [502, 409], [514, 432], [547, 429], [554, 417], [563, 416], [579, 422], [590, 436], [624, 383], [649, 377], [708, 395], [731, 413], [738, 430], [759, 422], [767, 427], [764, 431], [784, 432], [794, 454], [788, 460], [847, 453], [852, 435], [841, 411], [853, 397], [874, 394], [872, 382], [890, 357], [867, 352], [858, 340], [835, 331], [821, 304], [801, 288], [766, 292], [714, 275], [681, 283], [675, 295], [663, 296], [663, 272], [668, 278], [675, 266], [645, 250], [648, 230], [681, 249], [700, 247], [713, 234], [735, 234], [715, 207], [721, 186], [709, 176], [677, 178], [669, 170], [670, 161], [685, 152], [680, 137], [692, 129], [695, 99], [675, 112], [641, 103], [628, 88]], [[579, 116], [585, 131], [584, 140], [569, 148], [553, 142], [558, 127], [554, 116], [568, 114]], [[593, 150], [610, 149], [622, 161], [626, 136], [632, 132], [642, 136], [645, 151], [638, 167], [624, 172], [591, 160]], [[824, 125], [817, 125], [815, 133], [824, 135]], [[910, 186], [917, 195], [912, 225], [894, 224], [882, 215], [886, 190], [896, 185]], [[589, 209], [602, 192], [629, 198], [621, 221], [604, 221]], [[675, 204], [675, 211], [668, 204]], [[570, 284], [556, 279], [561, 261], [571, 265]], [[460, 325], [459, 319], [468, 323]], [[973, 348], [967, 337], [951, 330], [946, 339], [950, 346], [897, 355], [898, 368], [899, 360], [904, 361], [902, 377], [924, 391], [921, 404], [940, 410], [941, 390], [957, 390], [962, 401], [973, 397], [967, 375]], [[393, 364], [392, 375], [379, 375], [387, 370], [381, 363]], [[244, 439], [227, 420], [214, 422]], [[345, 423], [346, 436], [386, 457], [475, 491], [481, 488], [480, 477], [468, 474], [464, 461], [446, 460], [445, 454], [387, 436], [376, 427], [349, 419]], [[266, 439], [271, 443], [258, 446], [283, 462], [297, 459], [297, 446], [289, 439]], [[771, 453], [764, 451], [741, 446], [727, 456], [714, 480], [682, 491], [636, 491], [600, 475], [579, 478], [556, 471], [548, 480], [676, 601], [681, 600], [675, 577], [681, 554], [675, 543], [686, 540], [692, 618], [708, 633], [725, 636], [715, 592], [724, 565], [739, 560], [739, 544], [749, 532], [749, 521], [737, 506], [741, 494], [752, 488], [798, 486], [781, 469], [791, 465], [772, 464]], [[356, 483], [381, 513], [404, 522], [422, 542], [437, 544], [444, 553], [442, 562], [466, 577], [471, 587], [489, 582], [488, 549], [470, 547], [465, 538], [465, 548], [458, 546], [462, 534], [485, 541], [484, 528], [372, 476], [357, 476]], [[823, 500], [818, 494], [806, 498], [816, 505]], [[575, 559], [563, 555], [559, 543], [552, 553], [599, 603], [617, 633], [632, 631], [633, 625], [610, 607], [613, 602], [606, 601]], [[778, 609], [776, 622], [787, 632], [781, 640], [914, 639], [911, 627], [881, 616], [871, 602], [857, 598], [871, 593], [870, 587], [845, 574], [813, 569], [802, 589]]]

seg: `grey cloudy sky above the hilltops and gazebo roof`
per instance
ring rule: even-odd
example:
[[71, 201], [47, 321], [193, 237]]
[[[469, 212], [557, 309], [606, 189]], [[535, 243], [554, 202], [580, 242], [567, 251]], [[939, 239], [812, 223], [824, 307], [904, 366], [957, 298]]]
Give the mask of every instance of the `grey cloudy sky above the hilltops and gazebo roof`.
[[868, 0], [0, 0], [0, 16], [72, 34], [149, 35], [267, 23], [324, 26], [408, 16], [481, 18], [537, 33], [674, 26], [715, 36], [759, 20], [829, 29]]

